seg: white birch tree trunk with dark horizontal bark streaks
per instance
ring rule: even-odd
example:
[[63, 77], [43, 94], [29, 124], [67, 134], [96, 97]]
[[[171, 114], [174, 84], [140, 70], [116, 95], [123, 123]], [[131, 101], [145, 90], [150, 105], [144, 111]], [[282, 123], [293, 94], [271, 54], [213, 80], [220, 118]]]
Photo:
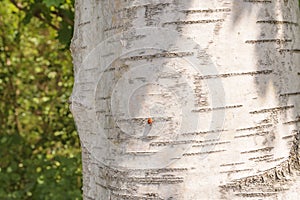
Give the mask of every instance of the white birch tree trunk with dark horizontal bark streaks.
[[298, 0], [77, 0], [75, 13], [84, 199], [297, 199]]

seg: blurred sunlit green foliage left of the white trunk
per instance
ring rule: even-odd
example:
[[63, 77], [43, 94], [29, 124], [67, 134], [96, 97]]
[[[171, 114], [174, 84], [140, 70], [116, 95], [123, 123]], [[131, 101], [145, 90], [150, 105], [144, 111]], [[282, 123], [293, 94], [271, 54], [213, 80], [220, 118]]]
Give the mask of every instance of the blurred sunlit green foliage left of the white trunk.
[[0, 199], [82, 199], [73, 2], [0, 1]]

